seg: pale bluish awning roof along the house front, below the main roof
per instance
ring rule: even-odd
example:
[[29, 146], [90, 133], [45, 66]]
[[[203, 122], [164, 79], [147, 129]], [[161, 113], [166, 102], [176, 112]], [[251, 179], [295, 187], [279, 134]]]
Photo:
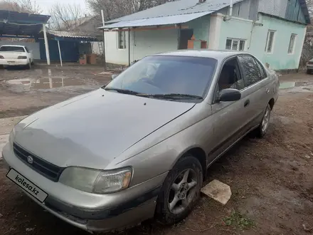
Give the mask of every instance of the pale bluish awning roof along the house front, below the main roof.
[[105, 27], [100, 28], [129, 28], [129, 27], [138, 27], [138, 26], [161, 26], [166, 24], [175, 24], [175, 23], [185, 23], [188, 21], [192, 21], [193, 19], [197, 19], [201, 16], [205, 16], [207, 14], [211, 14], [213, 11], [204, 11], [200, 13], [194, 14], [184, 14], [178, 16], [164, 16], [164, 17], [156, 17], [149, 19], [139, 19], [134, 21], [121, 21], [117, 23], [109, 24]]

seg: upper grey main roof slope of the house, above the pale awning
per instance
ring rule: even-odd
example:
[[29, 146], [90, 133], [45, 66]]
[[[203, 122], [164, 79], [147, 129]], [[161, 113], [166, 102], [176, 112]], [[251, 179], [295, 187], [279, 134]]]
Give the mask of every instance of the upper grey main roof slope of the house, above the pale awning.
[[[244, 0], [234, 0], [236, 4]], [[166, 4], [152, 7], [150, 9], [139, 11], [129, 16], [123, 16], [118, 19], [107, 21], [106, 23], [116, 23], [120, 21], [135, 21], [139, 19], [150, 19], [164, 16], [179, 16], [184, 14], [195, 14], [208, 12], [208, 14], [229, 6], [230, 0], [206, 0], [199, 3], [199, 0], [180, 0], [171, 1]]]

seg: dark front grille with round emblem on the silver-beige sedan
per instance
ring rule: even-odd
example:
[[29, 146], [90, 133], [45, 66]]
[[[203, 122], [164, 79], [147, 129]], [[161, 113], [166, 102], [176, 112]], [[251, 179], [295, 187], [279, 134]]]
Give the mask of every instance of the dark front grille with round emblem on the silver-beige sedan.
[[[51, 179], [53, 182], [58, 182], [60, 174], [63, 172], [62, 167], [55, 166], [50, 162], [47, 162], [36, 155], [33, 155], [31, 152], [24, 150], [21, 146], [16, 143], [13, 144], [13, 149], [16, 157], [18, 157], [22, 162], [31, 167], [33, 170], [42, 174], [44, 177]], [[33, 162], [28, 162], [28, 157], [33, 158]]]

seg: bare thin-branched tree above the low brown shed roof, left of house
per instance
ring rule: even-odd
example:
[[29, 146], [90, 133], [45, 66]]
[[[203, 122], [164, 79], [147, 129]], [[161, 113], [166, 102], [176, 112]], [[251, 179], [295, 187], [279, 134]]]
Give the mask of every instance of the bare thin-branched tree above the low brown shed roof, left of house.
[[51, 28], [56, 31], [74, 31], [87, 15], [77, 4], [54, 4], [50, 10]]

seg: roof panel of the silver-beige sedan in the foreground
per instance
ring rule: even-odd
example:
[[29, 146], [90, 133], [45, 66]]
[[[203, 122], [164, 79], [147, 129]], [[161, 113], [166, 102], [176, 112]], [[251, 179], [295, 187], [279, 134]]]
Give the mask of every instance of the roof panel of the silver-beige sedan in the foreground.
[[214, 50], [179, 50], [179, 51], [169, 51], [166, 53], [159, 53], [158, 56], [196, 56], [196, 57], [206, 57], [206, 58], [216, 58], [218, 61], [228, 58], [230, 56], [236, 55], [250, 55], [243, 51], [214, 51]]

